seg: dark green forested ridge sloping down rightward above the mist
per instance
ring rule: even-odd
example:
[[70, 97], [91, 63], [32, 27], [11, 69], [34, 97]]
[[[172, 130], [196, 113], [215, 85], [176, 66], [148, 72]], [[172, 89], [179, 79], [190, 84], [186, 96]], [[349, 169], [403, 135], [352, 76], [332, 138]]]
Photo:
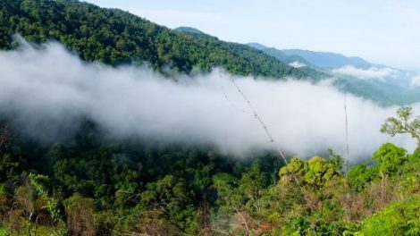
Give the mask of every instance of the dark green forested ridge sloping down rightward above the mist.
[[55, 39], [88, 62], [147, 63], [165, 72], [208, 72], [214, 67], [239, 75], [320, 78], [249, 46], [207, 35], [170, 30], [133, 14], [75, 0], [4, 0], [0, 3], [0, 48], [13, 48], [13, 34], [29, 42]]

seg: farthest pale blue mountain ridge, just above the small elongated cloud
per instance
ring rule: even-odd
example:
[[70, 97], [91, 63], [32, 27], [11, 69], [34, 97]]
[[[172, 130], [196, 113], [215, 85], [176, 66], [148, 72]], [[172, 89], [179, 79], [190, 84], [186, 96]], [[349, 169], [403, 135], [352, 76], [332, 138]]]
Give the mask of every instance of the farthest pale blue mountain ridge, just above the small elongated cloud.
[[345, 65], [353, 65], [357, 68], [367, 69], [373, 66], [372, 63], [366, 62], [363, 58], [357, 56], [345, 56], [335, 53], [314, 52], [300, 49], [284, 49], [281, 50], [285, 55], [298, 55], [307, 62], [323, 69], [338, 68]]

